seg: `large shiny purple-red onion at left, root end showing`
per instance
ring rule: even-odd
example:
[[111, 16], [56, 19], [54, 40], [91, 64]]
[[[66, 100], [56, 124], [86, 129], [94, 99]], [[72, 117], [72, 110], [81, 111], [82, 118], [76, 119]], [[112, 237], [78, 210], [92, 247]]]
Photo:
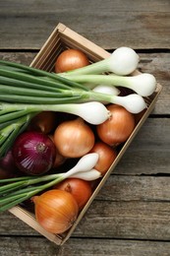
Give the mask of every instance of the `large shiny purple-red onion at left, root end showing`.
[[50, 170], [55, 155], [56, 147], [51, 139], [35, 131], [19, 135], [13, 145], [13, 157], [17, 167], [29, 175], [40, 175]]

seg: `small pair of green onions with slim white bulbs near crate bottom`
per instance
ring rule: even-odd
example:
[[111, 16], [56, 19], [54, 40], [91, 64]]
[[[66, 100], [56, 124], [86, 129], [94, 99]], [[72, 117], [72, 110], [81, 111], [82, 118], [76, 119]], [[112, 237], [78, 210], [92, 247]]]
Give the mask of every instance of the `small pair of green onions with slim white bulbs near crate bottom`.
[[0, 212], [23, 203], [32, 196], [40, 193], [68, 177], [95, 180], [101, 173], [93, 166], [98, 160], [98, 154], [90, 153], [79, 160], [76, 165], [64, 173], [40, 176], [23, 176], [0, 180]]

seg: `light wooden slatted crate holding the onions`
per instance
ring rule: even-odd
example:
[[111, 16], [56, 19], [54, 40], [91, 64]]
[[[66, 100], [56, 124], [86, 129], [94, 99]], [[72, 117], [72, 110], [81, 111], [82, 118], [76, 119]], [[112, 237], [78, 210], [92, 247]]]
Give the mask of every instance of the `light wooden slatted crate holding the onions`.
[[[36, 55], [32, 63], [30, 64], [30, 66], [51, 72], [54, 69], [54, 63], [56, 61], [57, 56], [66, 48], [77, 48], [77, 49], [83, 50], [91, 62], [96, 62], [98, 60], [107, 58], [110, 55], [109, 52], [105, 51], [101, 47], [92, 43], [91, 41], [86, 39], [84, 36], [78, 34], [77, 32], [73, 32], [63, 24], [59, 24], [56, 27], [56, 29], [51, 33], [49, 38], [46, 40], [46, 42], [44, 43], [39, 53]], [[139, 73], [139, 71], [136, 71], [135, 73]], [[112, 163], [112, 165], [110, 166], [106, 174], [102, 177], [101, 181], [98, 183], [97, 187], [92, 193], [92, 196], [90, 197], [87, 204], [85, 205], [85, 208], [79, 214], [79, 217], [76, 223], [73, 224], [72, 227], [67, 232], [65, 232], [64, 234], [52, 234], [47, 232], [41, 225], [39, 225], [36, 222], [33, 214], [29, 213], [28, 210], [20, 206], [14, 207], [9, 211], [13, 215], [21, 219], [23, 222], [25, 222], [26, 224], [34, 228], [37, 232], [45, 236], [50, 241], [53, 241], [58, 245], [64, 244], [65, 241], [71, 236], [71, 234], [73, 233], [74, 229], [79, 224], [79, 222], [82, 220], [86, 210], [88, 209], [89, 205], [95, 198], [96, 194], [99, 192], [99, 190], [105, 183], [106, 179], [109, 177], [110, 173], [114, 170], [115, 166], [117, 165], [119, 160], [121, 160], [127, 148], [132, 143], [133, 139], [141, 129], [143, 122], [152, 111], [160, 92], [161, 92], [161, 86], [157, 84], [155, 92], [151, 96], [145, 98], [147, 102], [147, 109], [142, 115], [142, 118], [140, 119], [139, 123], [137, 124], [130, 138], [126, 141], [126, 143], [121, 148], [116, 160], [114, 160], [114, 162]]]

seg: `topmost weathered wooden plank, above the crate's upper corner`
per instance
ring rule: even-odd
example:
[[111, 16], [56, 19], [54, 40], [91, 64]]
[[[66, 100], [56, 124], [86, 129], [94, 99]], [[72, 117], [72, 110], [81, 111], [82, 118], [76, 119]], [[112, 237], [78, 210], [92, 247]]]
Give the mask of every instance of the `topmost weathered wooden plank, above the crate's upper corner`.
[[106, 49], [169, 48], [169, 12], [168, 0], [1, 1], [0, 48], [38, 49], [58, 23]]

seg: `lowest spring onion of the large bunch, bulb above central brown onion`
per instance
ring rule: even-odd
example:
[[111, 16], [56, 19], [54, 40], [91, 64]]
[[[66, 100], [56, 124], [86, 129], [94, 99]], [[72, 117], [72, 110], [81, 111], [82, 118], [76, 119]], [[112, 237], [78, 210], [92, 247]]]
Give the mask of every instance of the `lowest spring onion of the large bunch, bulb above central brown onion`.
[[[11, 107], [13, 111], [10, 112]], [[41, 111], [60, 111], [77, 114], [91, 124], [99, 124], [109, 118], [107, 108], [100, 102], [68, 104], [10, 104], [0, 103], [0, 157], [4, 157], [15, 139], [28, 126], [31, 118]]]

